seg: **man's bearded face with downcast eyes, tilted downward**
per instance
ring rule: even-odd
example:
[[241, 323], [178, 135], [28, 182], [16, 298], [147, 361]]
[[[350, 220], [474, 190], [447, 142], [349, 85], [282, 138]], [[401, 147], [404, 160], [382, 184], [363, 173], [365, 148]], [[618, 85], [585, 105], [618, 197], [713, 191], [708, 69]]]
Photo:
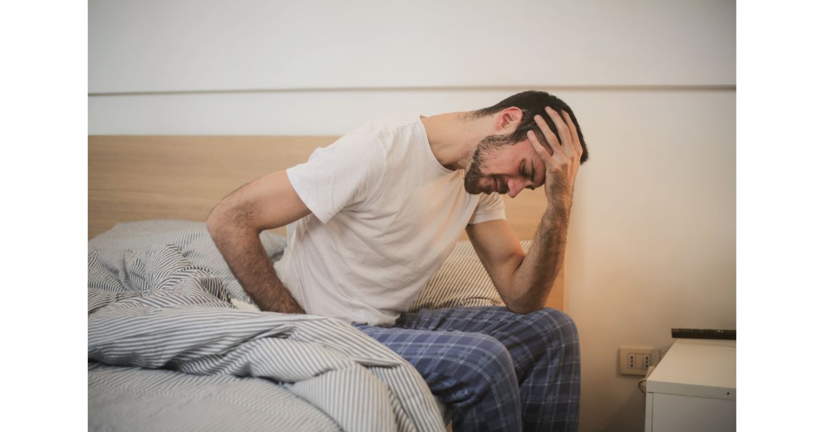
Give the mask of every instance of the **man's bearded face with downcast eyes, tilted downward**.
[[507, 193], [515, 197], [524, 188], [544, 184], [546, 168], [529, 140], [511, 144], [506, 137], [490, 135], [475, 148], [466, 168], [467, 193]]

